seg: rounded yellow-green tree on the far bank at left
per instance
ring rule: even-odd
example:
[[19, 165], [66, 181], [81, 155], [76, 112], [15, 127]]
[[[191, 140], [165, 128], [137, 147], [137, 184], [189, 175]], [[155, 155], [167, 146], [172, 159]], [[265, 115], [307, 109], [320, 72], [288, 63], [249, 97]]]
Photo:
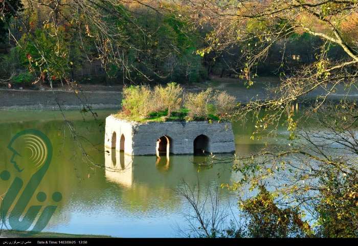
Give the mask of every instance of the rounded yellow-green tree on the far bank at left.
[[74, 31], [71, 25], [50, 23], [33, 33], [23, 34], [16, 47], [20, 66], [27, 67], [40, 81], [52, 83], [53, 80], [69, 79], [71, 71], [82, 61]]

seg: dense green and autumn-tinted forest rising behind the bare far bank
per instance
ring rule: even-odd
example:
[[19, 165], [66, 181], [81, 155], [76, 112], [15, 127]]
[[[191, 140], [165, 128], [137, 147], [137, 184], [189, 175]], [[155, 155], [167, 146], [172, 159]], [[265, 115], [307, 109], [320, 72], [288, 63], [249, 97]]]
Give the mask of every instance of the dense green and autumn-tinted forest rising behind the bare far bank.
[[[28, 85], [89, 80], [185, 83], [212, 75], [242, 78], [246, 44], [206, 52], [216, 27], [210, 16], [195, 23], [192, 7], [184, 2], [5, 1], [11, 7], [3, 9], [0, 22], [0, 77]], [[354, 20], [341, 25], [345, 28]], [[250, 33], [263, 25], [247, 21], [244, 28]], [[289, 75], [317, 62], [324, 42], [304, 31], [287, 35], [256, 62], [254, 74]], [[252, 46], [256, 45], [253, 40]], [[327, 58], [346, 56], [340, 46], [329, 46]]]

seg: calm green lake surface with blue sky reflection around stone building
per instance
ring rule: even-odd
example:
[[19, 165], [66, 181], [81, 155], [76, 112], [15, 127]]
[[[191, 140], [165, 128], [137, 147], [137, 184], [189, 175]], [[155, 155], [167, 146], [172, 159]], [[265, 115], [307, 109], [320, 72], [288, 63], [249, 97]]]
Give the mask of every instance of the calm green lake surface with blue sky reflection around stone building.
[[[60, 191], [63, 198], [44, 231], [115, 237], [181, 236], [178, 228], [188, 227], [184, 214], [191, 211], [186, 200], [176, 193], [183, 182], [190, 186], [199, 182], [200, 187], [206, 187], [200, 192], [204, 197], [207, 187], [231, 183], [238, 177], [231, 172], [231, 163], [198, 171], [195, 163], [203, 161], [203, 157], [192, 155], [171, 155], [169, 162], [163, 156], [159, 163], [155, 156], [126, 156], [121, 160], [128, 167], [125, 171], [105, 170], [103, 166], [108, 158], [105, 159], [103, 146], [104, 119], [113, 111], [96, 113], [97, 120], [88, 113], [65, 112], [91, 163], [58, 111], [0, 111], [0, 172], [15, 173], [7, 145], [17, 132], [38, 129], [52, 142], [52, 162], [37, 190], [46, 194]], [[253, 128], [250, 123], [233, 124], [237, 154], [252, 153], [262, 147], [262, 143], [250, 140]], [[282, 144], [286, 138], [286, 132], [279, 132], [271, 144]], [[26, 180], [26, 174], [21, 175]], [[8, 181], [0, 180], [0, 194], [7, 191], [12, 180], [13, 176]], [[223, 203], [230, 203], [236, 215], [236, 194], [220, 189], [220, 197]], [[33, 197], [29, 206], [38, 204]]]

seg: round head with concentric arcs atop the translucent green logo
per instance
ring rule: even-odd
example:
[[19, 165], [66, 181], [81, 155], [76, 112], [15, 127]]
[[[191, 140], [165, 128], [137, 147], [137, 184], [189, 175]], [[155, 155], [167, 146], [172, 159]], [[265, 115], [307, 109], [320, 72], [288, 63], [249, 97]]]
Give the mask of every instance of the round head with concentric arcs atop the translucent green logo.
[[18, 172], [25, 169], [35, 171], [48, 157], [46, 144], [41, 138], [30, 133], [13, 139], [8, 148], [13, 153], [10, 162]]

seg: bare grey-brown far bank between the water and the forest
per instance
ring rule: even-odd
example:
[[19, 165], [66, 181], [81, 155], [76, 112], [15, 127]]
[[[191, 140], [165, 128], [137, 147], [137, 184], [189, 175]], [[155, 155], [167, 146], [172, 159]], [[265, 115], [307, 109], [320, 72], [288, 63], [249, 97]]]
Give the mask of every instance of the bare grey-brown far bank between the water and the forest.
[[[234, 78], [213, 78], [206, 83], [184, 85], [187, 91], [200, 91], [207, 87], [215, 90], [227, 91], [235, 96], [238, 102], [247, 103], [256, 99], [267, 99], [270, 93], [267, 88], [279, 83], [278, 78], [261, 77], [254, 85], [247, 88], [246, 85]], [[342, 88], [341, 88], [342, 87]], [[343, 97], [358, 98], [358, 90], [346, 92], [343, 86], [338, 87], [336, 94], [328, 99], [340, 100]], [[122, 101], [123, 85], [81, 85], [74, 90], [59, 87], [51, 90], [8, 90], [0, 89], [0, 110], [66, 110], [82, 109], [88, 106], [92, 109], [119, 109]], [[318, 90], [306, 96], [309, 100], [315, 100], [322, 92]]]

